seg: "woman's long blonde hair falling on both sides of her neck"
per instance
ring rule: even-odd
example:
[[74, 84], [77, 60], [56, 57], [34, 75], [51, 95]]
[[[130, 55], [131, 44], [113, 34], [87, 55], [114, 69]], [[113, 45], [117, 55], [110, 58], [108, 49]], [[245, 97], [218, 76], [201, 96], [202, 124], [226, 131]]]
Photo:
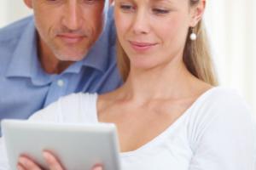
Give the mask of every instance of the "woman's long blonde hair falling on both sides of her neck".
[[[190, 5], [195, 5], [200, 0], [190, 0]], [[193, 29], [193, 30], [192, 30]], [[191, 32], [197, 35], [195, 41], [191, 41], [189, 35]], [[130, 60], [125, 54], [124, 49], [121, 47], [117, 40], [117, 61], [121, 76], [124, 82], [126, 81], [130, 71]], [[212, 86], [218, 85], [217, 77], [212, 64], [212, 57], [207, 40], [207, 33], [203, 26], [202, 20], [199, 21], [197, 26], [189, 28], [187, 40], [183, 51], [183, 62], [186, 65], [188, 71]]]

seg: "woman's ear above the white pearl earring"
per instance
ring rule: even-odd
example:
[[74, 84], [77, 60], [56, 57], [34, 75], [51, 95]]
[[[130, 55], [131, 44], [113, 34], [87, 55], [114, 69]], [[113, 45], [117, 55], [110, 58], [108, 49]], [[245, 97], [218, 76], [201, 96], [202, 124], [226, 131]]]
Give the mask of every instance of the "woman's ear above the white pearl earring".
[[195, 27], [197, 23], [201, 20], [205, 8], [206, 8], [206, 0], [201, 0], [198, 4], [195, 5], [195, 7], [191, 8], [191, 21], [190, 21], [190, 26]]

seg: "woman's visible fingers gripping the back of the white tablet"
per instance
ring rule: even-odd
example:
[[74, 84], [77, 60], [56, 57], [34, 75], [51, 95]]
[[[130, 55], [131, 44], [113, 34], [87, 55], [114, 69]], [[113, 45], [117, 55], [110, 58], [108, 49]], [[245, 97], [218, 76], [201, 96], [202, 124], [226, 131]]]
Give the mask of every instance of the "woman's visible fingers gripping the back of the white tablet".
[[[49, 166], [49, 170], [64, 170], [61, 166], [61, 162], [49, 151], [44, 151], [43, 156]], [[18, 170], [43, 170], [42, 167], [38, 166], [35, 161], [27, 156], [20, 156], [17, 168]], [[103, 168], [101, 165], [95, 165], [91, 170], [103, 170]]]

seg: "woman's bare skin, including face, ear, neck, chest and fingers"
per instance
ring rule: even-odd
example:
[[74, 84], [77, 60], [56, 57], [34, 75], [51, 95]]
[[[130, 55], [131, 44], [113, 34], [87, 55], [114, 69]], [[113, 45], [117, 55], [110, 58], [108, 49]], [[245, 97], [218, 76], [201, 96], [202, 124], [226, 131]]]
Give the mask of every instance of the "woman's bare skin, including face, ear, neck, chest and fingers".
[[[99, 96], [97, 116], [100, 122], [115, 123], [122, 152], [150, 142], [212, 88], [183, 64], [189, 27], [201, 20], [205, 3], [201, 0], [192, 8], [188, 0], [115, 1], [117, 34], [131, 71], [121, 88]], [[44, 157], [51, 170], [64, 169], [49, 152]], [[20, 157], [18, 168], [40, 169], [26, 156]]]

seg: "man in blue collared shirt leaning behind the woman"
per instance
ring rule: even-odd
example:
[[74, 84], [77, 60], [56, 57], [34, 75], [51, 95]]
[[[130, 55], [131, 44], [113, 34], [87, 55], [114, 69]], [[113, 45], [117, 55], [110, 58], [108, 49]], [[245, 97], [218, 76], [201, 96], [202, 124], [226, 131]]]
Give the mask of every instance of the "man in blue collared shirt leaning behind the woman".
[[24, 0], [34, 15], [0, 30], [0, 120], [26, 119], [63, 95], [121, 83], [108, 0]]

